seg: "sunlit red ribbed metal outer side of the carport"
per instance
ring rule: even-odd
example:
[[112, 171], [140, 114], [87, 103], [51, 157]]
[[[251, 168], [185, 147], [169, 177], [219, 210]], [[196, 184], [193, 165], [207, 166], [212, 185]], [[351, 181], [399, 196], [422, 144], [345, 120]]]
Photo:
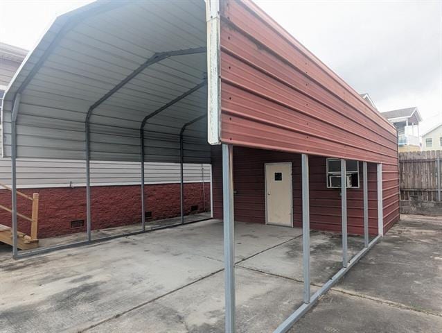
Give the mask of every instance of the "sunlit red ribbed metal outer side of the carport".
[[220, 16], [221, 141], [382, 163], [390, 228], [399, 218], [394, 126], [251, 1], [224, 0]]

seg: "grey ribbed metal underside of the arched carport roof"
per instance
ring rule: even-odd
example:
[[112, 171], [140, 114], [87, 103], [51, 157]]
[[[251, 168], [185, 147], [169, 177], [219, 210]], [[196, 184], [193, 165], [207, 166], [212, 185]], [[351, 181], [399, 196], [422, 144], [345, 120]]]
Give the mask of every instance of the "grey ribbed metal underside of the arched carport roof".
[[[6, 92], [3, 156], [179, 162], [179, 131], [206, 113], [203, 1], [98, 1], [55, 19]], [[193, 89], [198, 87], [199, 89]], [[191, 94], [186, 94], [191, 91]], [[17, 103], [18, 104], [18, 103]], [[209, 162], [204, 121], [184, 133], [185, 162]]]

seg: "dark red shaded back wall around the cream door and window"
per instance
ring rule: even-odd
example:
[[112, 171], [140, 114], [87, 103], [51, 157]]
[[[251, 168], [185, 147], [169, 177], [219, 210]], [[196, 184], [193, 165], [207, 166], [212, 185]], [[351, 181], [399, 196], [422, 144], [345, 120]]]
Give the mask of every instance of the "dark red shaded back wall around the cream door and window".
[[[233, 187], [236, 221], [265, 223], [265, 163], [292, 162], [294, 225], [301, 226], [301, 155], [253, 148], [233, 148]], [[222, 218], [222, 163], [220, 147], [213, 148], [213, 213]], [[376, 166], [369, 171], [369, 230], [378, 232]], [[362, 165], [360, 189], [348, 189], [348, 232], [363, 232]], [[310, 225], [315, 230], [341, 230], [339, 189], [326, 187], [326, 157], [310, 157]]]

